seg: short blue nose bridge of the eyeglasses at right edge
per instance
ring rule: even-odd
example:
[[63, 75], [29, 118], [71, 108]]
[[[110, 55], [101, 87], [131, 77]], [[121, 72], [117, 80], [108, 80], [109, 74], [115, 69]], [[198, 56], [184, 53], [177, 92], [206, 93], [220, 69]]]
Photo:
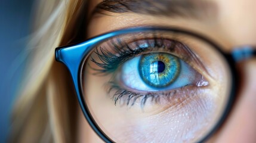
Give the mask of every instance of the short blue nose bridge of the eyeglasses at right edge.
[[249, 60], [256, 57], [256, 46], [239, 46], [232, 51], [232, 57], [238, 63], [239, 61]]

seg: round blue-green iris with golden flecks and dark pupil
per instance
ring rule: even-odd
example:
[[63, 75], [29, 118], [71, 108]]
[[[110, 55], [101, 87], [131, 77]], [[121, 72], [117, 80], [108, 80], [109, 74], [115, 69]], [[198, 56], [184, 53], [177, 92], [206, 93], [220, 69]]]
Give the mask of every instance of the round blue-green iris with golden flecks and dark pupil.
[[147, 85], [164, 88], [180, 74], [180, 61], [174, 55], [163, 52], [143, 54], [138, 69], [141, 79]]

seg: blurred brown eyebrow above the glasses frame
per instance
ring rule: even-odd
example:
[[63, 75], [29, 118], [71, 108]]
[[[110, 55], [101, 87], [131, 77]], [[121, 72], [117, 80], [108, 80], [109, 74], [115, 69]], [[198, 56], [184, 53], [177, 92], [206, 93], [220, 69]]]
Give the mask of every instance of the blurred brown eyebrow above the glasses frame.
[[92, 15], [108, 15], [106, 12], [214, 19], [218, 8], [214, 2], [206, 0], [104, 0]]

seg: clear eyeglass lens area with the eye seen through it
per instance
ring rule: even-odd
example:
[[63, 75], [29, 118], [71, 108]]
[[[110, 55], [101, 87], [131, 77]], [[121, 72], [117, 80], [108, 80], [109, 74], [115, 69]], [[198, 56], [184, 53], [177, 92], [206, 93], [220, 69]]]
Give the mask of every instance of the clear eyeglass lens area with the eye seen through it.
[[84, 60], [84, 100], [115, 142], [196, 142], [220, 120], [230, 70], [214, 47], [163, 30], [98, 43]]

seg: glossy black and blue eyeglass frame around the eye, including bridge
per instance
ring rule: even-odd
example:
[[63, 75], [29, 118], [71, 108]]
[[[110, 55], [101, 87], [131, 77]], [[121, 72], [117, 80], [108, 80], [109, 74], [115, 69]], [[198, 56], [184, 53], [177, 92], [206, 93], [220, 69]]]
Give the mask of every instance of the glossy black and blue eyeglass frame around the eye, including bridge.
[[199, 141], [199, 142], [205, 142], [224, 123], [224, 120], [227, 118], [231, 110], [231, 107], [233, 105], [233, 102], [235, 101], [236, 93], [238, 92], [238, 81], [240, 80], [240, 77], [238, 76], [238, 71], [236, 70], [236, 67], [235, 67], [237, 61], [245, 60], [246, 58], [255, 57], [256, 48], [252, 48], [252, 46], [240, 46], [240, 48], [236, 48], [231, 53], [227, 53], [222, 50], [221, 46], [217, 45], [215, 42], [212, 42], [209, 38], [206, 38], [206, 36], [199, 35], [196, 32], [192, 32], [189, 30], [183, 30], [177, 27], [172, 27], [172, 28], [134, 27], [134, 28], [116, 30], [113, 32], [105, 33], [103, 35], [96, 36], [95, 38], [91, 38], [85, 42], [76, 43], [75, 45], [60, 46], [55, 49], [55, 60], [65, 64], [66, 67], [69, 69], [73, 79], [74, 86], [75, 86], [79, 105], [81, 106], [85, 119], [87, 119], [87, 122], [89, 123], [91, 128], [94, 130], [95, 133], [97, 133], [98, 136], [100, 136], [101, 139], [103, 139], [103, 141], [114, 142], [97, 125], [97, 123], [93, 119], [87, 107], [87, 104], [85, 103], [85, 100], [82, 94], [82, 83], [81, 83], [81, 71], [82, 71], [82, 67], [84, 66], [83, 64], [85, 63], [84, 60], [88, 58], [89, 54], [95, 48], [95, 46], [98, 45], [98, 43], [106, 41], [109, 38], [113, 38], [118, 35], [124, 35], [127, 33], [147, 32], [147, 31], [154, 31], [154, 30], [165, 31], [165, 32], [169, 31], [172, 33], [182, 33], [185, 35], [190, 35], [195, 38], [201, 39], [202, 41], [209, 43], [209, 45], [217, 49], [217, 51], [223, 55], [223, 57], [226, 59], [229, 65], [230, 71], [232, 73], [232, 76], [231, 76], [232, 85], [231, 85], [229, 101], [226, 105], [223, 116], [220, 118], [217, 125], [215, 125], [215, 127], [208, 133], [208, 135], [206, 135], [204, 138], [202, 138], [201, 141]]

